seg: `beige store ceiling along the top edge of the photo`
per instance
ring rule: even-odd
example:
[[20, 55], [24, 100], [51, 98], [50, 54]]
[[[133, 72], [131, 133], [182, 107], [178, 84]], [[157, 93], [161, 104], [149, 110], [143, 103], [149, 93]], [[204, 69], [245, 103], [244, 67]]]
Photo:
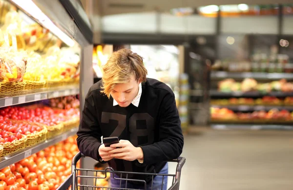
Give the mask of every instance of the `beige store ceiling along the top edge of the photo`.
[[169, 11], [172, 8], [199, 7], [225, 4], [286, 4], [292, 0], [82, 0], [92, 3], [93, 15], [114, 15], [122, 13], [149, 12], [154, 10]]

